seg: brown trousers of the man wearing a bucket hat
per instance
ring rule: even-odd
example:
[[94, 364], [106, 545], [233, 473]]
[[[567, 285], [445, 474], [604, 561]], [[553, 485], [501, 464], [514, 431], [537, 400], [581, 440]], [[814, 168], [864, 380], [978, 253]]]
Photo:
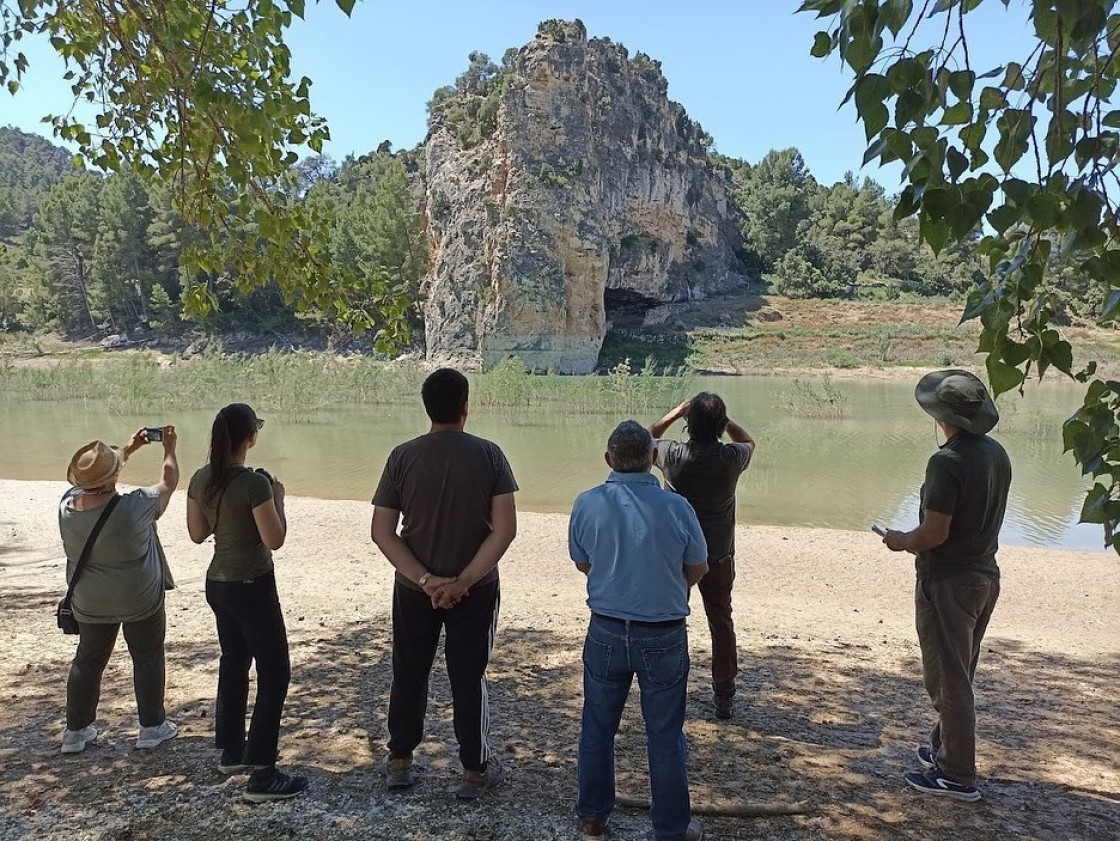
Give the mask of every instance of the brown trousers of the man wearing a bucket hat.
[[937, 711], [931, 746], [948, 776], [977, 781], [977, 714], [972, 678], [980, 660], [999, 579], [982, 572], [918, 581], [914, 594], [925, 690]]

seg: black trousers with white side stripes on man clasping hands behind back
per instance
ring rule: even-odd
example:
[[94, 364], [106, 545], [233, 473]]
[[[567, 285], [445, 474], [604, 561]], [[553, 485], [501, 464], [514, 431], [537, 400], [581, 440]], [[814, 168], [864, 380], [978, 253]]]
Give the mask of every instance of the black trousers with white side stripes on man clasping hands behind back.
[[450, 609], [431, 606], [422, 591], [393, 586], [393, 685], [389, 690], [389, 754], [411, 756], [423, 738], [428, 679], [440, 630], [451, 683], [455, 738], [466, 770], [485, 770], [489, 758], [486, 666], [494, 648], [498, 582], [476, 585]]

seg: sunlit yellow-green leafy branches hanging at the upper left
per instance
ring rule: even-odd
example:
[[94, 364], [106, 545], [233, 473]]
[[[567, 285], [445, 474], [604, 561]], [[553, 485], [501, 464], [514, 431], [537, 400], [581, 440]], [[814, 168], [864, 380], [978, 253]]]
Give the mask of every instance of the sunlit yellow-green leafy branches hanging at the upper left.
[[[346, 15], [355, 0], [336, 0]], [[352, 306], [345, 291], [367, 279], [325, 261], [328, 219], [298, 202], [297, 150], [320, 152], [326, 122], [310, 80], [291, 77], [284, 35], [305, 0], [0, 0], [0, 85], [18, 94], [26, 37], [49, 39], [66, 62], [75, 106], [47, 118], [78, 159], [133, 170], [167, 188], [199, 236], [184, 250], [194, 279], [184, 299], [214, 306], [213, 281], [242, 288], [274, 281], [300, 309], [329, 311], [353, 328], [377, 328], [398, 346], [408, 325], [400, 284], [379, 281]], [[92, 120], [76, 116], [91, 112]]]

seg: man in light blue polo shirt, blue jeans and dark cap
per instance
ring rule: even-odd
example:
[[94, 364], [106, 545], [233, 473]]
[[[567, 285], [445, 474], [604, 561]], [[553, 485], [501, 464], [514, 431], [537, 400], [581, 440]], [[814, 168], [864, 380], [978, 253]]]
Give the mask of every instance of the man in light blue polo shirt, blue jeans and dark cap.
[[689, 588], [708, 571], [696, 512], [650, 475], [653, 438], [637, 421], [607, 440], [606, 483], [580, 494], [568, 549], [587, 576], [584, 719], [576, 814], [584, 841], [606, 834], [615, 806], [615, 736], [631, 683], [642, 690], [655, 841], [699, 841], [685, 768]]

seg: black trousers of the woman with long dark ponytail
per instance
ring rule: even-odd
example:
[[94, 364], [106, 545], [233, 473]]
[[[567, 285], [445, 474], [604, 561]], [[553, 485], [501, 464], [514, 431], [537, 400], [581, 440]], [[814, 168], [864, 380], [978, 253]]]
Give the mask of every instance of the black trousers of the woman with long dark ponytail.
[[[206, 601], [217, 619], [222, 660], [217, 671], [214, 744], [243, 748], [248, 765], [274, 765], [279, 755], [280, 716], [288, 697], [291, 662], [288, 632], [280, 610], [276, 574], [252, 581], [206, 581]], [[249, 667], [256, 663], [256, 698], [245, 735]]]

